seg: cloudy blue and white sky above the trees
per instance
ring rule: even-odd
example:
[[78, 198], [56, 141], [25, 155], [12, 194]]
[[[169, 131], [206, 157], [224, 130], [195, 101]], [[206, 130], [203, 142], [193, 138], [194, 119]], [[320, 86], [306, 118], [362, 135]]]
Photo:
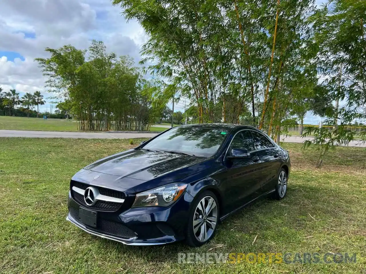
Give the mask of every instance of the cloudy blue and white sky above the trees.
[[[108, 51], [139, 61], [146, 35], [138, 23], [127, 23], [120, 12], [110, 0], [1, 0], [0, 86], [5, 91], [15, 88], [20, 96], [36, 90], [45, 98], [52, 96], [44, 92], [45, 79], [34, 62], [36, 57], [49, 57], [45, 47], [71, 44], [85, 49], [96, 39], [104, 41]], [[179, 103], [176, 110], [183, 107]], [[49, 103], [40, 111], [46, 108]], [[318, 120], [307, 115], [304, 122], [316, 124]]]

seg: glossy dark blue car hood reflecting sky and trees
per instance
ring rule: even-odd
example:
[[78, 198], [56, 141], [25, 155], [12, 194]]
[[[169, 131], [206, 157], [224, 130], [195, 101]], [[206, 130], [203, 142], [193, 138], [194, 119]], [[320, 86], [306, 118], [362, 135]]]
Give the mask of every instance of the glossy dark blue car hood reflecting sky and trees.
[[84, 169], [144, 181], [157, 177], [162, 177], [163, 180], [175, 180], [190, 174], [188, 172], [186, 172], [187, 174], [174, 172], [173, 177], [167, 175], [172, 171], [205, 160], [207, 158], [130, 149], [98, 160]]

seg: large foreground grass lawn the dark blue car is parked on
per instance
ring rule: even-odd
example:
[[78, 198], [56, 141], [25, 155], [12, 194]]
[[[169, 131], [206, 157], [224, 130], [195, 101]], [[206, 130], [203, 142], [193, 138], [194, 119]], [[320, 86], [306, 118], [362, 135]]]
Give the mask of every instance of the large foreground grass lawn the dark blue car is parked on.
[[[65, 220], [71, 176], [134, 147], [129, 140], [0, 138], [0, 273], [364, 273], [366, 149], [337, 148], [315, 169], [312, 149], [284, 146], [292, 161], [285, 199], [229, 217], [200, 248], [136, 247]], [[179, 264], [178, 252], [355, 252], [357, 262]]]

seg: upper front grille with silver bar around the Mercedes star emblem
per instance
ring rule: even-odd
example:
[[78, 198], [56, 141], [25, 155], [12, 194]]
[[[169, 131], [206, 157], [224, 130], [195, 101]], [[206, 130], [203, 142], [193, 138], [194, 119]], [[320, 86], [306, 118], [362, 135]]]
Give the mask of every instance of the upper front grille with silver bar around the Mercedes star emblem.
[[[95, 203], [93, 205], [87, 205], [84, 199], [84, 191], [87, 187], [92, 187], [96, 191], [94, 197]], [[71, 180], [71, 195], [72, 198], [85, 208], [100, 211], [116, 211], [123, 202], [126, 195], [123, 192], [115, 191], [111, 189], [105, 189], [103, 187], [90, 186], [81, 182]]]

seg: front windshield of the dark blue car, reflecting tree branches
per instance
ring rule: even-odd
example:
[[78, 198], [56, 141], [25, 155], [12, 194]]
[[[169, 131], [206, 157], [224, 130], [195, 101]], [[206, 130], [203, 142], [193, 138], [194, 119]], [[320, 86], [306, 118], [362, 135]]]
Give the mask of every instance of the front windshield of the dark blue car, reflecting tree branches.
[[210, 157], [219, 149], [226, 134], [227, 130], [223, 129], [177, 127], [151, 140], [143, 149]]

